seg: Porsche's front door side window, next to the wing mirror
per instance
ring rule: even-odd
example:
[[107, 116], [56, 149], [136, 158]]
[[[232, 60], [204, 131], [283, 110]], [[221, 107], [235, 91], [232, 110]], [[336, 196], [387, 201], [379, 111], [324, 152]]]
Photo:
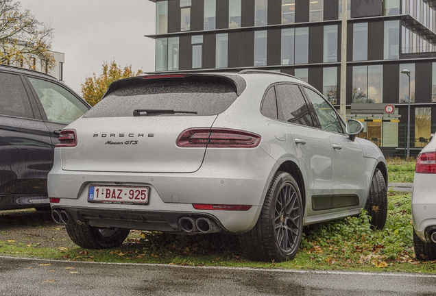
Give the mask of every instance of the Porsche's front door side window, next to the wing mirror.
[[310, 88], [304, 88], [306, 90], [308, 98], [315, 108], [319, 124], [323, 130], [328, 132], [337, 132], [343, 134], [341, 123], [337, 117], [337, 112], [328, 105], [327, 101], [315, 93]]

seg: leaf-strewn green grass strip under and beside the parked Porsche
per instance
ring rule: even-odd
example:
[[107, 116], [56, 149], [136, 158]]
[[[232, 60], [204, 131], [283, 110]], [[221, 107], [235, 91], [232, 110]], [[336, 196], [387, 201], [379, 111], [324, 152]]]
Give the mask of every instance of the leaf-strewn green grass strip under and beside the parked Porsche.
[[435, 262], [414, 258], [410, 193], [389, 193], [388, 199], [384, 230], [372, 230], [364, 212], [359, 217], [313, 225], [304, 230], [300, 250], [288, 262], [246, 260], [234, 236], [141, 231], [132, 231], [127, 243], [115, 249], [47, 248], [5, 240], [0, 241], [0, 254], [95, 262], [436, 273]]

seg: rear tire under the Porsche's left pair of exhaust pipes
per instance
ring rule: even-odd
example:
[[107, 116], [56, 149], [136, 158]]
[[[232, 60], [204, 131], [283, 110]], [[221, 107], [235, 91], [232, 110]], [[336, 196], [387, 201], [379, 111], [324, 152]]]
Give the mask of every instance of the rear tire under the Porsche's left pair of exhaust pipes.
[[108, 249], [119, 247], [130, 230], [124, 228], [100, 228], [90, 225], [65, 225], [73, 242], [85, 249]]

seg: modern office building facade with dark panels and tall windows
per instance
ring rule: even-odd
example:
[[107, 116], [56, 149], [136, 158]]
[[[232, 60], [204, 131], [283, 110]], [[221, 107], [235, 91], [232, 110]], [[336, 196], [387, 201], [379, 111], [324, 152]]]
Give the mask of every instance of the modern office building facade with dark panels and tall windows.
[[[154, 0], [152, 0], [154, 1]], [[156, 72], [265, 69], [295, 75], [333, 106], [389, 103], [394, 117], [354, 117], [361, 137], [405, 153], [410, 71], [411, 154], [436, 130], [436, 0], [164, 0], [156, 2]], [[341, 50], [346, 98], [339, 95]]]

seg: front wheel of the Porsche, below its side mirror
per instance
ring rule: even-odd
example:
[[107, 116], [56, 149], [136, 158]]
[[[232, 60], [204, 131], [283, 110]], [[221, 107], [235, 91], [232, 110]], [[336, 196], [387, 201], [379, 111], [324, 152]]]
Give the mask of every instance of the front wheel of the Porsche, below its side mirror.
[[370, 186], [370, 193], [366, 201], [365, 210], [371, 217], [371, 225], [383, 230], [387, 217], [387, 189], [385, 177], [379, 169], [374, 171]]

